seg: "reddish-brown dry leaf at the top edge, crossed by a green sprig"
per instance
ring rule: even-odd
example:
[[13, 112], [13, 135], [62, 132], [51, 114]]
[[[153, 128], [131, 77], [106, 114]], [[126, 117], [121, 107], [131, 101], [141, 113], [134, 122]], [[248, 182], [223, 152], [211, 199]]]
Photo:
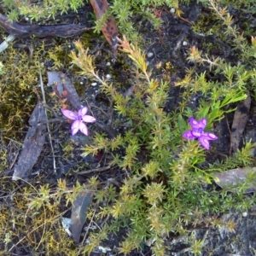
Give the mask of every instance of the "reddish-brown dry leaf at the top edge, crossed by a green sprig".
[[[107, 0], [90, 0], [90, 4], [94, 9], [97, 20], [99, 20], [108, 9]], [[118, 32], [119, 32], [118, 28], [113, 18], [108, 19], [105, 25], [102, 26], [102, 33], [104, 37], [107, 39], [108, 44], [110, 44], [113, 49], [117, 49], [117, 46], [118, 46], [117, 44]]]

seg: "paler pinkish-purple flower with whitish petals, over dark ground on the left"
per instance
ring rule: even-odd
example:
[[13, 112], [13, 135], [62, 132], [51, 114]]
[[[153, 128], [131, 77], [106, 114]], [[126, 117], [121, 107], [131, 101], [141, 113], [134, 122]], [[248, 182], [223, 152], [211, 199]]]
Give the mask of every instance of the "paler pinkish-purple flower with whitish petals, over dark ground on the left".
[[71, 125], [71, 132], [72, 135], [75, 135], [78, 131], [84, 133], [84, 135], [89, 136], [88, 128], [84, 124], [86, 123], [93, 123], [96, 119], [91, 115], [86, 115], [88, 108], [80, 108], [78, 112], [73, 112], [71, 110], [61, 108], [61, 112], [68, 118], [72, 119], [73, 124]]

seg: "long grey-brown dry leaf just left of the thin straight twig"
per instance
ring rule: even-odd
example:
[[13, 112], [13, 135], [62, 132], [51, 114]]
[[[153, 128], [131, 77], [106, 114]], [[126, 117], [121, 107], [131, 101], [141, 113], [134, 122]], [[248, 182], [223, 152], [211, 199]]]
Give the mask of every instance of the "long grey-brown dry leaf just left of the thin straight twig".
[[46, 115], [41, 102], [38, 102], [29, 119], [31, 127], [26, 132], [26, 137], [19, 156], [18, 164], [15, 165], [13, 180], [24, 178], [37, 162], [45, 141]]

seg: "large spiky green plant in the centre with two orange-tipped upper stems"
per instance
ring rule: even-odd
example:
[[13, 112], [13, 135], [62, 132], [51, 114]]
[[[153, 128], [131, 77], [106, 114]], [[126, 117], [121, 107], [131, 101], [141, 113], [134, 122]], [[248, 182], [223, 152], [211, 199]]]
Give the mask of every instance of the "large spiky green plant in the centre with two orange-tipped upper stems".
[[[177, 111], [165, 113], [163, 102], [167, 99], [168, 83], [151, 77], [145, 54], [137, 48], [137, 45], [129, 44], [125, 37], [119, 40], [119, 44], [121, 50], [134, 63], [133, 97], [123, 96], [113, 84], [108, 83], [108, 80], [101, 79], [95, 70], [93, 57], [88, 55], [88, 49], [84, 50], [80, 42], [75, 44], [78, 54], [73, 52], [71, 55], [73, 63], [81, 68], [80, 73], [102, 84], [102, 91], [113, 98], [117, 113], [130, 124], [128, 131], [113, 139], [96, 134], [93, 143], [84, 148], [84, 155], [96, 154], [98, 150], [103, 149], [106, 153], [113, 154], [113, 166], [119, 166], [124, 172], [129, 173], [120, 188], [120, 194], [116, 195], [111, 206], [102, 209], [100, 213], [102, 216], [112, 217], [112, 222], [106, 224], [106, 232], [115, 232], [124, 226], [129, 228], [129, 235], [127, 234], [127, 238], [121, 243], [119, 251], [130, 253], [133, 248], [140, 247], [142, 242], [154, 241], [152, 250], [155, 255], [165, 255], [163, 238], [170, 230], [182, 234], [186, 232], [184, 225], [191, 222], [192, 218], [196, 223], [201, 221], [202, 214], [206, 212], [229, 211], [230, 197], [224, 194], [222, 199], [219, 199], [214, 189], [204, 191], [201, 188], [201, 183], [211, 183], [211, 172], [218, 169], [217, 166], [201, 169], [201, 164], [206, 161], [206, 152], [199, 143], [191, 141], [183, 144], [182, 133], [188, 128], [183, 116], [191, 117], [194, 111], [184, 108], [183, 112], [183, 106], [186, 106], [184, 101], [180, 113]], [[192, 49], [189, 60], [194, 55], [198, 55], [197, 60], [201, 60], [201, 55], [195, 49]], [[195, 58], [193, 60], [195, 61]], [[219, 71], [218, 65], [222, 65], [224, 70], [229, 67], [224, 61], [211, 63], [217, 67], [215, 69], [217, 73], [223, 72]], [[244, 71], [243, 68], [238, 70]], [[197, 83], [200, 84], [198, 90], [210, 98], [212, 103], [208, 102], [206, 105], [202, 100], [195, 115], [200, 118], [207, 117], [208, 128], [211, 129], [212, 122], [222, 119], [224, 113], [234, 111], [234, 108], [230, 110], [225, 106], [246, 98], [245, 81], [251, 79], [254, 73], [249, 72], [249, 75], [245, 73], [246, 75], [236, 72], [237, 77], [232, 77], [232, 81], [230, 79], [219, 83], [218, 87], [214, 86], [211, 89], [209, 88], [212, 82], [207, 82], [203, 75], [195, 79], [187, 77], [177, 85], [191, 86], [191, 96], [195, 93], [192, 87], [194, 88]], [[235, 83], [236, 86], [233, 86]], [[229, 90], [230, 94], [225, 94], [223, 97], [220, 91], [224, 90]], [[188, 91], [189, 88], [185, 93]], [[203, 126], [205, 127], [206, 124]], [[205, 145], [203, 143], [203, 146]], [[125, 154], [114, 154], [120, 148], [125, 149]], [[247, 153], [249, 153], [248, 148], [250, 147], [244, 149]], [[141, 155], [144, 155], [143, 160], [139, 159]], [[236, 163], [238, 162], [241, 164], [242, 160], [236, 158]], [[247, 162], [250, 163], [252, 159]], [[239, 204], [241, 198], [241, 195], [234, 197], [232, 204]], [[226, 203], [226, 200], [229, 203]], [[102, 197], [98, 198], [97, 202], [101, 201]], [[184, 205], [186, 207], [183, 207]], [[243, 207], [247, 208], [248, 205]], [[95, 235], [94, 239], [96, 239]], [[90, 252], [93, 246], [100, 242], [100, 237], [98, 236], [95, 241], [96, 243], [86, 247], [86, 252]], [[200, 247], [201, 241], [194, 241], [192, 250], [198, 253]]]

